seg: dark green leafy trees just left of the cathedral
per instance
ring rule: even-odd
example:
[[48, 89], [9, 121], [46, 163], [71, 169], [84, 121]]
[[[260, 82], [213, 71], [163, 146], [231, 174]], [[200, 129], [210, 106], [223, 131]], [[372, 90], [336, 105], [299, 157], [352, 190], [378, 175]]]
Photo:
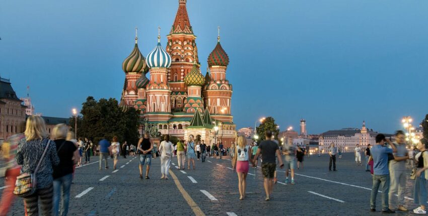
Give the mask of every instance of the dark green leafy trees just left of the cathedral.
[[[120, 143], [128, 142], [128, 145], [136, 145], [138, 142], [138, 113], [130, 107], [127, 112], [122, 112], [114, 98], [101, 98], [96, 101], [89, 96], [82, 104], [82, 116], [78, 117], [78, 137], [91, 139], [94, 144], [102, 138], [111, 141], [117, 136]], [[70, 119], [70, 126], [75, 131], [75, 118]]]

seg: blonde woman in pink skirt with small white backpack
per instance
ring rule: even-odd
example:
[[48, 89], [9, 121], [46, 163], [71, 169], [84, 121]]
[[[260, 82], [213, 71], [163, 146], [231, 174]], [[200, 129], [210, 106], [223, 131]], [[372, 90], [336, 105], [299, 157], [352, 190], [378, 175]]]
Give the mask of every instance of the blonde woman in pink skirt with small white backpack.
[[247, 145], [247, 140], [244, 136], [238, 137], [238, 145], [235, 147], [235, 154], [233, 157], [233, 169], [236, 168], [238, 173], [238, 188], [239, 194], [241, 195], [239, 199], [245, 198], [245, 189], [247, 186], [247, 174], [249, 169], [249, 154], [250, 154], [250, 145]]

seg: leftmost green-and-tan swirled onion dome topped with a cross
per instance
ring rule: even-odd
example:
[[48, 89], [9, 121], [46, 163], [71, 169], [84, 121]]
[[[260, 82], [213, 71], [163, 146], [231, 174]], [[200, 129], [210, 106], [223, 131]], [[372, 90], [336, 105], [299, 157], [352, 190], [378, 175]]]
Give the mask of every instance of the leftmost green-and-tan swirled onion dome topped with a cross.
[[142, 72], [147, 72], [148, 70], [146, 59], [138, 49], [138, 38], [136, 35], [136, 28], [135, 28], [135, 46], [131, 54], [127, 58], [125, 58], [125, 60], [123, 61], [122, 70], [125, 73], [131, 73], [131, 72], [142, 73]]

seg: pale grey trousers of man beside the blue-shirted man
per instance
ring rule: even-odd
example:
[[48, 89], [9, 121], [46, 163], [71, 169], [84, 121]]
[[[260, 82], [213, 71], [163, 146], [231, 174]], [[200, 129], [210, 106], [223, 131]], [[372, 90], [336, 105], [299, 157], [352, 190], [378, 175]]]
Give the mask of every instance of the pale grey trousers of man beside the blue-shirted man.
[[396, 196], [398, 194], [398, 205], [404, 204], [404, 190], [406, 189], [406, 171], [394, 170], [390, 166], [389, 176], [390, 176], [390, 189], [389, 189], [389, 205], [394, 206]]

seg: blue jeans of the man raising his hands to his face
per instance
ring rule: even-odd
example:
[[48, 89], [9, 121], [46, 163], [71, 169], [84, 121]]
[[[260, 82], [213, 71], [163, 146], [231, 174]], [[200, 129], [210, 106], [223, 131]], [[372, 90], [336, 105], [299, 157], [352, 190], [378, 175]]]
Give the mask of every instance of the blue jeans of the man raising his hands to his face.
[[376, 208], [376, 196], [378, 195], [379, 186], [382, 185], [382, 210], [388, 210], [388, 192], [389, 192], [389, 174], [373, 175], [372, 194], [370, 196], [370, 208]]

